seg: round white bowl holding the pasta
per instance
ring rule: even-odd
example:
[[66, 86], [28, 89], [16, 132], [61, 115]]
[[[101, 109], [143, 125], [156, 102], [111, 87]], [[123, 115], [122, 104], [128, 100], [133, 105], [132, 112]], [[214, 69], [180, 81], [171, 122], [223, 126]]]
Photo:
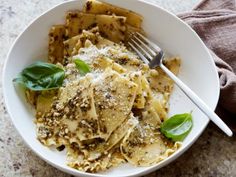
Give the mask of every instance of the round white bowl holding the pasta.
[[[156, 41], [171, 55], [182, 58], [179, 77], [195, 91], [212, 109], [219, 97], [219, 80], [215, 64], [207, 48], [197, 34], [183, 21], [166, 10], [142, 1], [107, 2], [140, 13], [144, 17], [143, 28], [150, 39]], [[42, 159], [54, 167], [73, 175], [82, 176], [136, 176], [157, 170], [185, 152], [199, 137], [209, 120], [189, 99], [175, 88], [170, 100], [170, 115], [193, 110], [194, 126], [183, 146], [169, 158], [151, 167], [121, 165], [104, 173], [84, 173], [65, 164], [65, 154], [51, 150], [36, 139], [34, 116], [22, 91], [17, 90], [12, 79], [34, 60], [46, 59], [48, 31], [51, 25], [64, 23], [65, 12], [81, 9], [85, 0], [60, 4], [35, 19], [13, 44], [3, 72], [3, 94], [12, 122], [26, 144]]]

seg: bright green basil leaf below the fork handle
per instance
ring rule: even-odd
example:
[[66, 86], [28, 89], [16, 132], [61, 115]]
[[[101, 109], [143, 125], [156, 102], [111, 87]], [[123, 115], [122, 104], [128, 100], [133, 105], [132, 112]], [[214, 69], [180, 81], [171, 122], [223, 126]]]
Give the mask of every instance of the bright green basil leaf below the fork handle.
[[176, 114], [161, 124], [161, 132], [173, 141], [183, 141], [192, 126], [191, 114]]

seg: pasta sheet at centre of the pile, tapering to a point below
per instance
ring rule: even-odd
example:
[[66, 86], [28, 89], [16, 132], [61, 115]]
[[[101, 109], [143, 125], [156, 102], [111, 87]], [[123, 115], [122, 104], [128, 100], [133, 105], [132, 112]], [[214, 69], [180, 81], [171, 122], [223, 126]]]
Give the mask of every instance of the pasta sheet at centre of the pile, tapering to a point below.
[[95, 81], [95, 107], [100, 131], [105, 140], [131, 113], [136, 91], [137, 85], [134, 82], [110, 68]]

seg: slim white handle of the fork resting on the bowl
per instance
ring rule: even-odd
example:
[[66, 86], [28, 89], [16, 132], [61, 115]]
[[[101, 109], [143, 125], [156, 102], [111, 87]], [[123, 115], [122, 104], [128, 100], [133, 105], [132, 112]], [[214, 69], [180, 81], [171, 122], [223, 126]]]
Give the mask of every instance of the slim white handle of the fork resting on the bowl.
[[189, 97], [190, 100], [209, 117], [223, 132], [228, 136], [232, 136], [233, 132], [229, 127], [221, 120], [217, 114], [211, 110], [209, 106], [206, 105], [201, 98], [197, 96], [186, 84], [184, 84], [178, 77], [176, 77], [168, 68], [166, 68], [162, 63], [160, 64], [161, 69], [176, 83], [176, 85]]

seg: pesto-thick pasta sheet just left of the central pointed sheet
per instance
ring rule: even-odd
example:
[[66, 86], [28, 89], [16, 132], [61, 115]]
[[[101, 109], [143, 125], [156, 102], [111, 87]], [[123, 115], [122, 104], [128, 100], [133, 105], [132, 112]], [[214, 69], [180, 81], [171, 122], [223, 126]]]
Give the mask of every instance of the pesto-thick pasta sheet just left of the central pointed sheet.
[[100, 137], [93, 92], [91, 78], [87, 76], [68, 84], [58, 99], [57, 106], [63, 107], [60, 104], [66, 103], [62, 124], [68, 127], [68, 134], [73, 134], [71, 136], [80, 141]]

